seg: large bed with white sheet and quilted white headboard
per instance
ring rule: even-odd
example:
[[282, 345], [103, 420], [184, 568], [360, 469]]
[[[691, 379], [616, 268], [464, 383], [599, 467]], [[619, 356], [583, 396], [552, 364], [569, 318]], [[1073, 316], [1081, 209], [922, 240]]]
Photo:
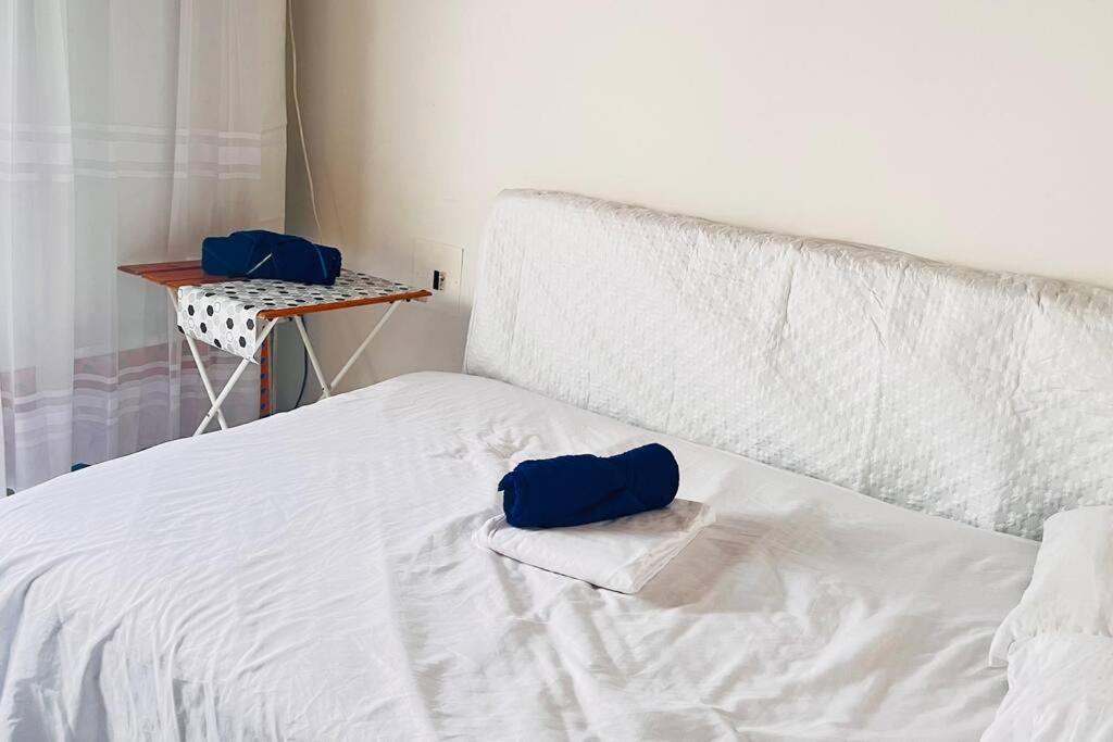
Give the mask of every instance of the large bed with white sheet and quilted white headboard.
[[[991, 639], [1031, 577], [1042, 521], [1111, 492], [1113, 436], [1101, 433], [1113, 418], [1099, 412], [1113, 389], [1113, 293], [754, 235], [506, 194], [469, 373], [398, 377], [0, 502], [0, 736], [977, 739], [1006, 691]], [[748, 276], [747, 240], [787, 299]], [[646, 255], [654, 245], [687, 255], [683, 267]], [[797, 264], [786, 279], [778, 260], [816, 255], [817, 287], [841, 307], [831, 327], [854, 323], [820, 329], [850, 360], [828, 353], [784, 389], [794, 344], [829, 313], [794, 314], [824, 299], [809, 294], [814, 270]], [[592, 285], [630, 260], [651, 268], [592, 304]], [[888, 325], [846, 309], [856, 295], [835, 289], [847, 270], [867, 301], [897, 301]], [[892, 363], [855, 346], [900, 352], [893, 320], [917, 309], [897, 297], [936, 270], [958, 283], [935, 290], [981, 314], [949, 316], [944, 337], [922, 313], [924, 346], [904, 348], [915, 363], [902, 368], [949, 390], [998, 373], [983, 364], [1015, 372], [979, 393], [992, 399], [972, 397], [972, 421], [955, 418], [989, 427], [959, 425], [945, 443], [933, 426], [954, 400], [916, 396], [918, 427], [896, 434], [886, 426], [907, 422], [910, 382], [886, 382]], [[754, 286], [748, 315], [731, 304], [738, 284]], [[757, 310], [766, 299], [779, 324]], [[585, 326], [603, 301], [649, 308]], [[1028, 330], [1012, 345], [967, 333], [1017, 308]], [[764, 350], [723, 340], [736, 332]], [[1028, 343], [1044, 336], [1053, 365]], [[867, 368], [844, 373], [855, 362]], [[855, 384], [873, 385], [871, 423], [858, 402], [839, 406], [863, 398]], [[811, 396], [788, 409], [791, 395]], [[1071, 418], [1071, 445], [1051, 456], [1042, 436], [1066, 435]], [[472, 543], [518, 462], [650, 441], [676, 454], [679, 496], [711, 504], [717, 523], [637, 595]]]

